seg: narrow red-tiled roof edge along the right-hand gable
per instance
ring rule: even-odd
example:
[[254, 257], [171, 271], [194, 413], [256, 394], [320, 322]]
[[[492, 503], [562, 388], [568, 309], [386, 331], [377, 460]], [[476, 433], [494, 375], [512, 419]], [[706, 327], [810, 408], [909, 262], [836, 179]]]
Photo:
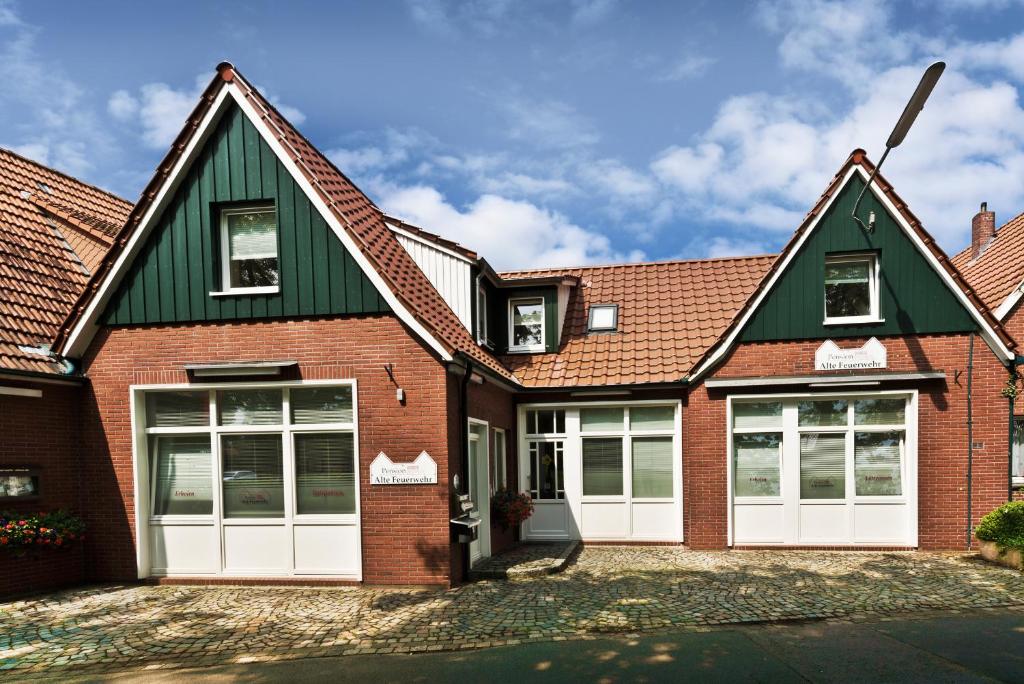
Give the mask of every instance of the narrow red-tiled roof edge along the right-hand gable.
[[[831, 200], [833, 196], [846, 184], [847, 179], [849, 178], [851, 172], [854, 171], [855, 167], [859, 167], [864, 177], [868, 177], [874, 170], [874, 165], [867, 159], [867, 153], [863, 149], [858, 148], [850, 153], [849, 158], [847, 158], [839, 172], [828, 183], [827, 187], [825, 187], [824, 193], [821, 194], [821, 197], [807, 213], [807, 216], [804, 217], [803, 222], [800, 224], [800, 227], [797, 228], [796, 232], [794, 232], [793, 238], [790, 239], [790, 242], [786, 243], [785, 247], [782, 248], [782, 251], [775, 258], [774, 263], [772, 263], [771, 267], [764, 273], [764, 276], [761, 279], [757, 288], [755, 288], [755, 290], [751, 293], [750, 299], [748, 299], [739, 311], [737, 311], [735, 317], [723, 332], [721, 341], [714, 346], [709, 347], [699, 362], [694, 365], [691, 380], [703, 375], [707, 371], [714, 367], [722, 355], [731, 347], [739, 331], [750, 317], [751, 312], [757, 307], [762, 293], [768, 290], [774, 283], [780, 269], [784, 268], [788, 258], [792, 253], [796, 251], [805, 233], [815, 226], [817, 219], [824, 212], [829, 200]], [[924, 250], [926, 251], [926, 256], [932, 260], [933, 264], [937, 265], [940, 271], [945, 272], [948, 275], [948, 277], [952, 281], [952, 288], [959, 291], [964, 295], [967, 299], [969, 308], [974, 309], [982, 323], [980, 328], [983, 336], [989, 344], [994, 345], [992, 347], [993, 350], [1001, 344], [1006, 349], [998, 352], [999, 355], [1012, 355], [1012, 351], [1010, 350], [1016, 348], [1017, 343], [1010, 336], [1010, 334], [1007, 333], [989, 307], [971, 288], [970, 284], [964, 279], [961, 272], [949, 260], [949, 257], [947, 257], [945, 252], [943, 252], [942, 249], [935, 243], [932, 236], [925, 230], [921, 221], [918, 220], [918, 217], [913, 215], [913, 213], [906, 206], [906, 203], [903, 202], [903, 200], [896, 194], [892, 185], [881, 173], [874, 176], [873, 186], [871, 189], [872, 191], [877, 190], [878, 193], [881, 193], [886, 200], [891, 203], [892, 207], [899, 214], [899, 218], [902, 218], [909, 230], [921, 241]], [[1007, 352], [1010, 353], [1008, 354]]]

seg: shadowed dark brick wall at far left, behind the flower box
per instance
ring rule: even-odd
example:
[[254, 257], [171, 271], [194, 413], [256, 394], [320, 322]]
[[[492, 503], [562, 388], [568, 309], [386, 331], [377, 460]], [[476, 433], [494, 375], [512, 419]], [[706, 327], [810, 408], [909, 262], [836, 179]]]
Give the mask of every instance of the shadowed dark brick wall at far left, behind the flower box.
[[[42, 397], [0, 394], [0, 468], [39, 471], [40, 498], [0, 502], [0, 510], [80, 512], [77, 386], [3, 381], [8, 387], [39, 389]], [[0, 596], [44, 591], [82, 582], [79, 548], [13, 557], [0, 552]]]

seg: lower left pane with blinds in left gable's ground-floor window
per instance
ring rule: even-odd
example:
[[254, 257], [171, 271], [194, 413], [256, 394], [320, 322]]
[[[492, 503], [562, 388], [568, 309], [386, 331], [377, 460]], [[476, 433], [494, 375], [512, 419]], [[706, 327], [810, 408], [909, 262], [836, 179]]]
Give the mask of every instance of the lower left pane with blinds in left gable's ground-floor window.
[[151, 438], [154, 515], [213, 513], [213, 455], [210, 435]]

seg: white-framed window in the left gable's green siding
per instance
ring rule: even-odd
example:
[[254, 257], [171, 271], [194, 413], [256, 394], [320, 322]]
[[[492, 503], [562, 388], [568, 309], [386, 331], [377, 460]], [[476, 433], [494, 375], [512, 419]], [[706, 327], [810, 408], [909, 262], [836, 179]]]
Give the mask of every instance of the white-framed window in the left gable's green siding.
[[221, 292], [279, 292], [278, 213], [273, 206], [227, 207], [220, 211]]

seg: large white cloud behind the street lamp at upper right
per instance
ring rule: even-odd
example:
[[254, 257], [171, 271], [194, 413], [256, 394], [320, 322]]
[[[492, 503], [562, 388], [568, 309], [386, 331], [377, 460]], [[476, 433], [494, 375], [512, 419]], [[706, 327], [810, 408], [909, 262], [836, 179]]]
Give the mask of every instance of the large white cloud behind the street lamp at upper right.
[[[877, 2], [784, 0], [762, 3], [759, 15], [780, 33], [783, 65], [839, 83], [848, 104], [829, 109], [813, 92], [733, 96], [693, 141], [657, 155], [651, 170], [677, 205], [706, 221], [783, 233], [796, 228], [854, 147], [878, 161], [924, 66], [943, 48], [936, 39], [897, 34]], [[893, 45], [893, 36], [903, 45]], [[1002, 41], [1001, 60], [986, 45], [975, 63], [1012, 73], [1022, 41], [1024, 35]], [[966, 242], [979, 202], [1006, 215], [1024, 207], [1022, 151], [1017, 89], [950, 67], [884, 173], [953, 251]]]

